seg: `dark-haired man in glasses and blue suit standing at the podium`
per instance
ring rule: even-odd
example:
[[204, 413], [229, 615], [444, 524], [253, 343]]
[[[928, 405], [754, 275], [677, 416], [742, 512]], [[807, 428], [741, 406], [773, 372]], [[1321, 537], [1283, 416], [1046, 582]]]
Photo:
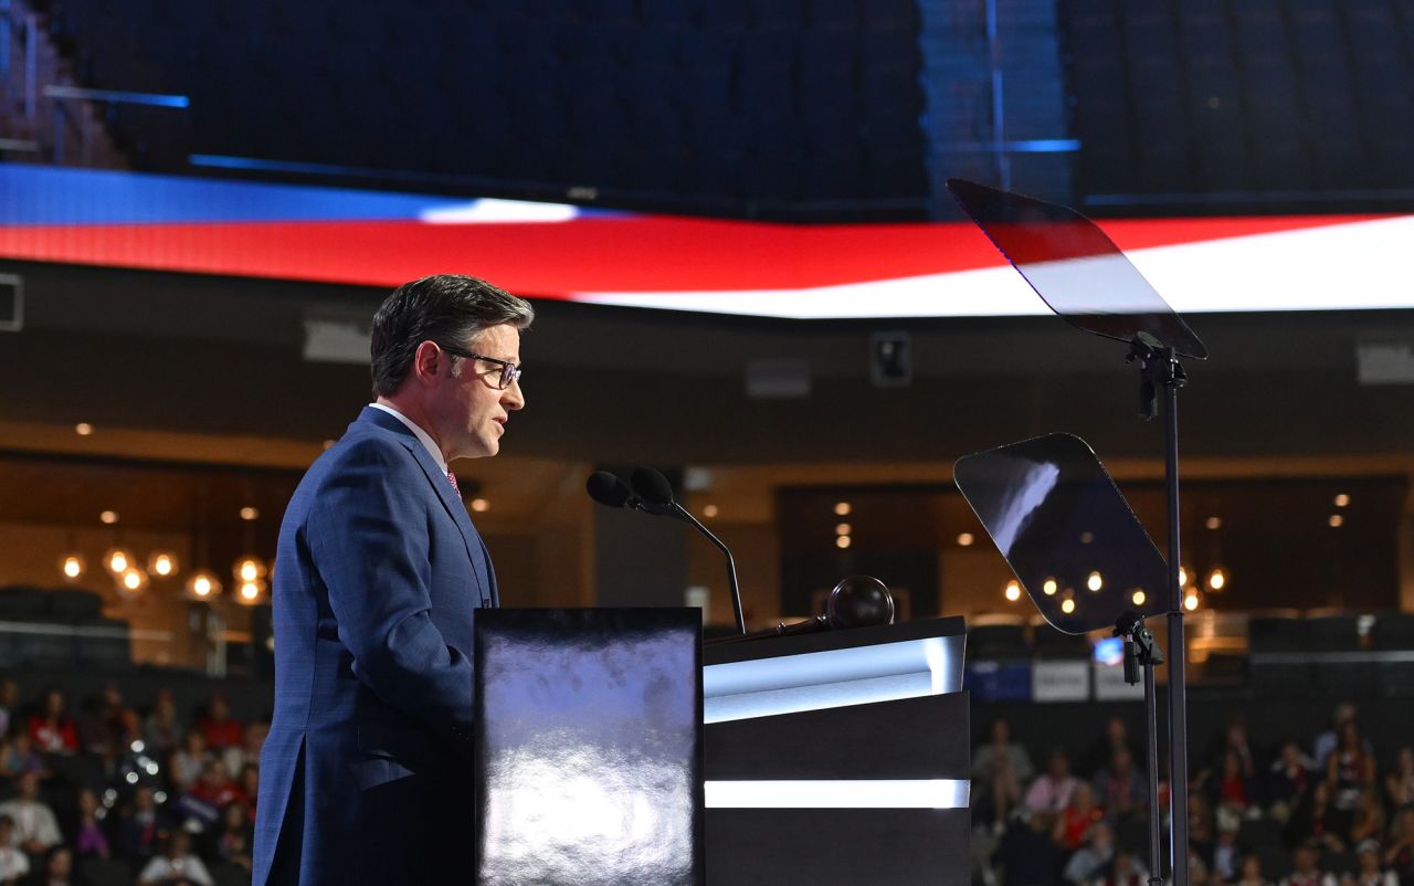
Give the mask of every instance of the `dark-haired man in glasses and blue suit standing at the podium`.
[[498, 596], [447, 463], [499, 451], [532, 318], [457, 276], [399, 287], [373, 318], [376, 401], [280, 527], [255, 886], [475, 876], [472, 619]]

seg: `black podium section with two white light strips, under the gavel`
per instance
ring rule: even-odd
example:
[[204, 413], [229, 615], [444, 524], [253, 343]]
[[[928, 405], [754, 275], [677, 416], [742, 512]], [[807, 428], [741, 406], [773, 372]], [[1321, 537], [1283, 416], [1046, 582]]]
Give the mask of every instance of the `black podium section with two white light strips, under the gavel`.
[[969, 883], [963, 643], [950, 618], [708, 647], [708, 882]]

